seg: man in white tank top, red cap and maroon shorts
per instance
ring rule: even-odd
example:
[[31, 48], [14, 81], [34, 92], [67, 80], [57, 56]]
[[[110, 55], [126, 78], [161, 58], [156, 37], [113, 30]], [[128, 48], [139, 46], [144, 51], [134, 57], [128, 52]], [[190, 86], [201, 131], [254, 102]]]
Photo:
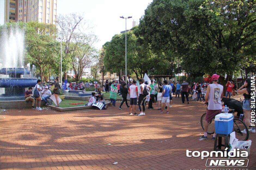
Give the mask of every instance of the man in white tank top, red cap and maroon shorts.
[[[221, 98], [223, 97], [223, 86], [218, 84], [219, 75], [212, 75], [212, 84], [208, 85], [205, 103], [208, 103], [208, 110], [205, 116], [205, 133], [201, 139], [207, 140], [208, 122], [211, 122], [215, 115], [220, 114], [222, 111]], [[213, 134], [212, 140], [215, 140], [216, 134]]]

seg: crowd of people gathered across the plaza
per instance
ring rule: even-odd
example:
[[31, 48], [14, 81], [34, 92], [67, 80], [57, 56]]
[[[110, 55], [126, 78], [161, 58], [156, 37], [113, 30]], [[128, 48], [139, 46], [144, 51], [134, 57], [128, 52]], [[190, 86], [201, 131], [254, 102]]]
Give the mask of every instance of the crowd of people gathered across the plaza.
[[[187, 101], [187, 104], [189, 104], [189, 96], [191, 94], [192, 100], [194, 101], [202, 101], [205, 103], [208, 103], [208, 110], [206, 112], [206, 122], [205, 122], [205, 133], [203, 136], [201, 136], [201, 139], [207, 139], [207, 127], [208, 122], [212, 120], [212, 118], [221, 113], [222, 111], [222, 103], [221, 98], [223, 95], [223, 85], [218, 84], [219, 75], [214, 74], [212, 75], [212, 83], [209, 82], [205, 83], [199, 83], [199, 82], [193, 82], [191, 85], [189, 85], [188, 82], [183, 81], [180, 82], [173, 82], [172, 79], [169, 81], [164, 80], [163, 83], [159, 82], [157, 83], [155, 80], [151, 80], [150, 82], [145, 81], [144, 79], [139, 79], [139, 87], [137, 86], [137, 82], [133, 80], [132, 82], [129, 82], [126, 84], [122, 79], [120, 83], [116, 83], [115, 81], [109, 82], [106, 81], [104, 85], [104, 91], [109, 92], [109, 99], [110, 102], [115, 107], [117, 95], [120, 95], [122, 97], [122, 102], [120, 103], [119, 109], [123, 109], [122, 106], [125, 102], [127, 108], [130, 108], [129, 115], [138, 115], [138, 116], [144, 116], [146, 115], [146, 105], [148, 104], [148, 109], [154, 109], [153, 104], [158, 104], [158, 108], [156, 110], [160, 110], [160, 113], [163, 113], [164, 109], [166, 110], [166, 113], [169, 113], [169, 108], [172, 107], [172, 98], [175, 96], [175, 98], [179, 98], [181, 96], [181, 101], [184, 104], [185, 99]], [[55, 82], [59, 82], [58, 78], [55, 79]], [[27, 91], [25, 91], [25, 99], [26, 102], [32, 101], [32, 109], [36, 109], [37, 111], [42, 111], [41, 105], [41, 98], [46, 103], [49, 104], [48, 98], [51, 97], [51, 95], [55, 96], [57, 105], [56, 107], [59, 107], [58, 102], [58, 95], [60, 94], [60, 84], [55, 83], [54, 86], [52, 86], [52, 93], [49, 90], [49, 87], [44, 87], [44, 89], [41, 88], [41, 80], [37, 81], [37, 84], [34, 87], [34, 91], [38, 91], [39, 96], [34, 97], [32, 93], [32, 87], [29, 87]], [[95, 87], [95, 91], [97, 91], [97, 82], [86, 82], [79, 84], [74, 83], [67, 83], [66, 88], [69, 89], [72, 87], [72, 89], [84, 89], [88, 87]], [[234, 81], [228, 81], [225, 85], [227, 87], [227, 91], [225, 93], [225, 97], [231, 97], [232, 92], [233, 95], [235, 95], [236, 85], [234, 84]], [[77, 87], [77, 88], [75, 88]], [[246, 126], [249, 126], [250, 124], [250, 101], [251, 101], [251, 80], [246, 79], [245, 84], [242, 85], [238, 90], [238, 94], [244, 95], [244, 102], [243, 102], [243, 112], [245, 115], [245, 124]], [[204, 94], [202, 94], [202, 91], [204, 91]], [[128, 98], [129, 97], [129, 98]], [[128, 105], [128, 99], [130, 100], [130, 105]], [[92, 96], [89, 99], [89, 102], [86, 105], [93, 105], [97, 102], [100, 102], [103, 104], [102, 109], [107, 109], [108, 106], [105, 103], [105, 100], [103, 99], [100, 92], [96, 95], [95, 92], [92, 92]], [[34, 107], [35, 105], [35, 107]], [[136, 113], [136, 105], [139, 107], [139, 114]], [[255, 132], [254, 129], [251, 129], [250, 131]], [[244, 131], [246, 133], [246, 131]], [[213, 135], [213, 140], [215, 140], [215, 135]]]

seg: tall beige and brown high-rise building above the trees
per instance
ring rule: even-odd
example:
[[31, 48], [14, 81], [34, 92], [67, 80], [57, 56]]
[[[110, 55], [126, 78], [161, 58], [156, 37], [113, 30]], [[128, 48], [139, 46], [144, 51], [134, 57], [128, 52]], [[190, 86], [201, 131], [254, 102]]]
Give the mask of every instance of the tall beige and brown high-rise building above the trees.
[[4, 0], [4, 22], [56, 24], [57, 0]]

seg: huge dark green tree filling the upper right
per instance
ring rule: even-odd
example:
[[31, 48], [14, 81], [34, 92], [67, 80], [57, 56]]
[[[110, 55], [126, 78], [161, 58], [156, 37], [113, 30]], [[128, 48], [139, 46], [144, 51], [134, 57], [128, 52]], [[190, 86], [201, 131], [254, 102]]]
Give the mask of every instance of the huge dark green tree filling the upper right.
[[245, 53], [255, 54], [255, 3], [154, 0], [140, 20], [140, 34], [154, 52], [176, 53], [187, 72], [218, 73], [225, 84]]

